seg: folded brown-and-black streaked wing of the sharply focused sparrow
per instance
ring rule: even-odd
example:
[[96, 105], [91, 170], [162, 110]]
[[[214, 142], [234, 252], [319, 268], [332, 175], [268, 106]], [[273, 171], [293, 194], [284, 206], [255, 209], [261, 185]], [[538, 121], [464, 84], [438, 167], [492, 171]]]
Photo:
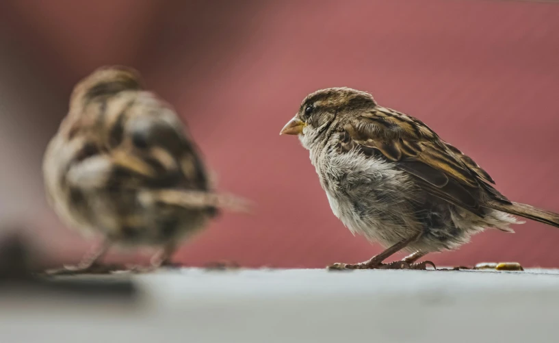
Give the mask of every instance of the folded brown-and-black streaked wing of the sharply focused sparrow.
[[510, 203], [470, 157], [441, 140], [420, 120], [386, 107], [363, 112], [346, 123], [338, 149], [382, 157], [412, 175], [426, 192], [479, 216], [483, 213], [482, 193], [493, 201]]

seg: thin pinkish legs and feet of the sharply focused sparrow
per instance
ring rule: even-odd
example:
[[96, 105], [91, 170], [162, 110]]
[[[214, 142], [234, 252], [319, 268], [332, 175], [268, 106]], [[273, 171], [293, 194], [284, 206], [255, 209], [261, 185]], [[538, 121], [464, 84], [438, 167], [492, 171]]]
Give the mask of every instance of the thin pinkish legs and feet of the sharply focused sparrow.
[[[415, 240], [417, 240], [420, 236], [421, 236], [421, 233], [418, 233], [417, 235], [412, 236], [411, 238], [408, 238], [406, 240], [402, 240], [401, 242], [398, 242], [398, 243], [394, 244], [393, 246], [389, 247], [385, 251], [382, 251], [382, 253], [380, 253], [376, 256], [373, 256], [368, 261], [361, 262], [361, 263], [358, 263], [358, 264], [335, 263], [331, 266], [328, 266], [328, 269], [329, 270], [344, 270], [344, 269], [426, 269], [426, 264], [424, 264], [424, 263], [413, 264], [413, 262], [415, 262], [415, 259], [411, 260], [412, 263], [407, 262], [405, 259], [402, 260], [402, 261], [391, 262], [389, 264], [383, 264], [382, 263], [382, 261], [384, 261], [385, 259], [387, 259], [391, 255], [393, 255], [395, 253], [398, 253], [398, 251], [404, 249], [411, 242], [415, 242]], [[423, 255], [421, 255], [421, 256], [423, 256]], [[421, 257], [421, 256], [419, 256], [419, 257]], [[419, 257], [417, 257], [417, 259], [419, 259]]]

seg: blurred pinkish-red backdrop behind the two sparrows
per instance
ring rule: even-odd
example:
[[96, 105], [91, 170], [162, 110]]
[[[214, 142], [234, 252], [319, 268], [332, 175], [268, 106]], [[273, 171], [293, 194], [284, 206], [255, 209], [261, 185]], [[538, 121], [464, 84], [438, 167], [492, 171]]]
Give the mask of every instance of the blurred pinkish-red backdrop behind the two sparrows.
[[[306, 94], [332, 86], [417, 116], [510, 199], [559, 212], [558, 3], [291, 0], [200, 10], [191, 1], [165, 12], [154, 1], [99, 1], [73, 16], [70, 2], [57, 3], [11, 9], [36, 27], [14, 30], [66, 71], [64, 94], [100, 64], [138, 67], [188, 121], [220, 189], [257, 203], [254, 216], [226, 214], [185, 244], [183, 262], [322, 267], [380, 251], [330, 212], [298, 140], [278, 136]], [[559, 266], [559, 229], [516, 229], [430, 259]]]

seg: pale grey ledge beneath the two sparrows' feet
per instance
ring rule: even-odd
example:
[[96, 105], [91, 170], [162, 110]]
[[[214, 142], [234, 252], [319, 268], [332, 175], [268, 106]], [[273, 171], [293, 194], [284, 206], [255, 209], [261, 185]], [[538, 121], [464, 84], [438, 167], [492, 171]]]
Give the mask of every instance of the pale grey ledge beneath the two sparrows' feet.
[[[113, 278], [127, 278], [117, 275]], [[186, 269], [137, 302], [0, 295], [0, 342], [559, 342], [559, 273]]]

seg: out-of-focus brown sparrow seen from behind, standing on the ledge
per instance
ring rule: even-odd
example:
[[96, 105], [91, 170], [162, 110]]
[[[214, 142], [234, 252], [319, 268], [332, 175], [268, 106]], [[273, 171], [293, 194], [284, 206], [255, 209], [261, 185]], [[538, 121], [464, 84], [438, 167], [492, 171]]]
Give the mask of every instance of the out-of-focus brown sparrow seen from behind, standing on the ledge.
[[81, 271], [99, 266], [114, 244], [155, 247], [153, 266], [170, 264], [179, 243], [220, 209], [245, 205], [213, 191], [185, 124], [125, 66], [99, 68], [75, 86], [44, 153], [43, 174], [61, 220], [103, 236], [74, 267]]

